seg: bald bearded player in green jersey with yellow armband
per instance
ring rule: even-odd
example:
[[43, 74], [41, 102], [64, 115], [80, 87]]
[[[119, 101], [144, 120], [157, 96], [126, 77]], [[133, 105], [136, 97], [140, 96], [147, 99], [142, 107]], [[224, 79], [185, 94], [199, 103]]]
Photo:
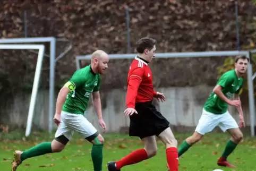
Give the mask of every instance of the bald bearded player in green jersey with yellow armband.
[[91, 142], [91, 158], [95, 171], [102, 170], [104, 138], [95, 127], [84, 117], [89, 96], [92, 93], [93, 106], [99, 119], [100, 126], [106, 131], [101, 114], [100, 74], [107, 69], [108, 55], [103, 50], [97, 50], [91, 56], [91, 65], [76, 71], [59, 91], [56, 102], [54, 122], [58, 125], [55, 139], [43, 142], [25, 151], [16, 150], [12, 162], [12, 170], [16, 170], [25, 159], [45, 155], [46, 153], [61, 152], [72, 138], [74, 131]]

